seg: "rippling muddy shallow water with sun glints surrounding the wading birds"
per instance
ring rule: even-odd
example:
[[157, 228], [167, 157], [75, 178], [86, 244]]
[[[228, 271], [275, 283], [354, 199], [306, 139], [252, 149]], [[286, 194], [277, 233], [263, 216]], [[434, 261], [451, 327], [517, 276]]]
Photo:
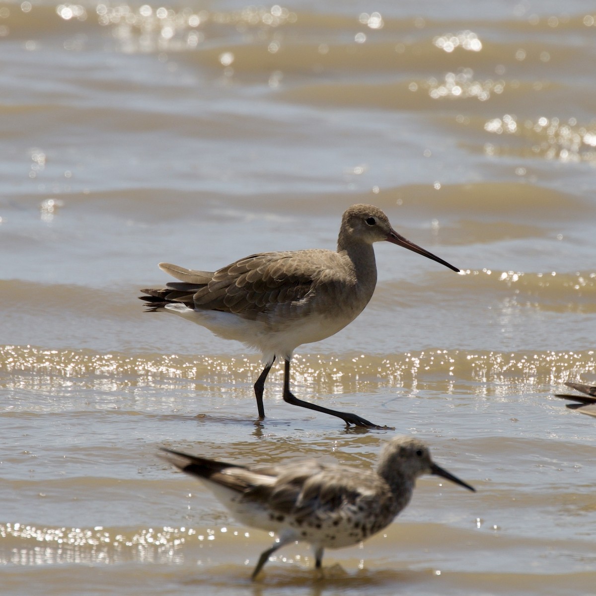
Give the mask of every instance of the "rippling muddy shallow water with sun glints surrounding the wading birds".
[[[596, 13], [590, 2], [0, 4], [4, 594], [591, 594]], [[374, 203], [454, 274], [377, 246], [349, 327], [302, 346], [255, 424], [259, 355], [138, 288], [333, 248]], [[364, 545], [279, 551], [157, 457], [368, 467], [427, 440], [477, 493], [418, 482]], [[106, 573], [108, 572], [108, 573]]]

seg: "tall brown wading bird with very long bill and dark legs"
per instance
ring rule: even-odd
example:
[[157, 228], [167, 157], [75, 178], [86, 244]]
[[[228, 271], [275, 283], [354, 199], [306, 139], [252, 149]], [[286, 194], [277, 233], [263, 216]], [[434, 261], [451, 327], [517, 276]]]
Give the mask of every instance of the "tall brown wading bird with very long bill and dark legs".
[[297, 346], [332, 336], [362, 312], [377, 283], [373, 243], [380, 241], [460, 271], [399, 235], [378, 207], [359, 204], [343, 214], [337, 251], [251, 254], [215, 272], [160, 263], [179, 282], [141, 290], [146, 295], [140, 298], [147, 311], [163, 309], [262, 352], [265, 368], [254, 384], [260, 420], [265, 380], [279, 357], [285, 362], [285, 402], [342, 418], [347, 426], [375, 427], [356, 414], [296, 398], [290, 392], [290, 360]]

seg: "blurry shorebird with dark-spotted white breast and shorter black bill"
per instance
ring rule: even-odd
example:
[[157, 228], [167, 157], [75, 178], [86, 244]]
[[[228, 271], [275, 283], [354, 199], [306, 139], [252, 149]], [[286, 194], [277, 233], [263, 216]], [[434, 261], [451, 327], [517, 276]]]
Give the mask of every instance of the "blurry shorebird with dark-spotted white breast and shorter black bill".
[[426, 444], [414, 437], [390, 440], [376, 471], [313, 460], [227, 464], [164, 451], [170, 463], [200, 478], [238, 522], [277, 534], [260, 555], [253, 579], [278, 548], [295, 541], [312, 545], [320, 569], [325, 548], [358, 544], [388, 526], [408, 504], [422, 474], [436, 474], [474, 491], [435, 464]]

